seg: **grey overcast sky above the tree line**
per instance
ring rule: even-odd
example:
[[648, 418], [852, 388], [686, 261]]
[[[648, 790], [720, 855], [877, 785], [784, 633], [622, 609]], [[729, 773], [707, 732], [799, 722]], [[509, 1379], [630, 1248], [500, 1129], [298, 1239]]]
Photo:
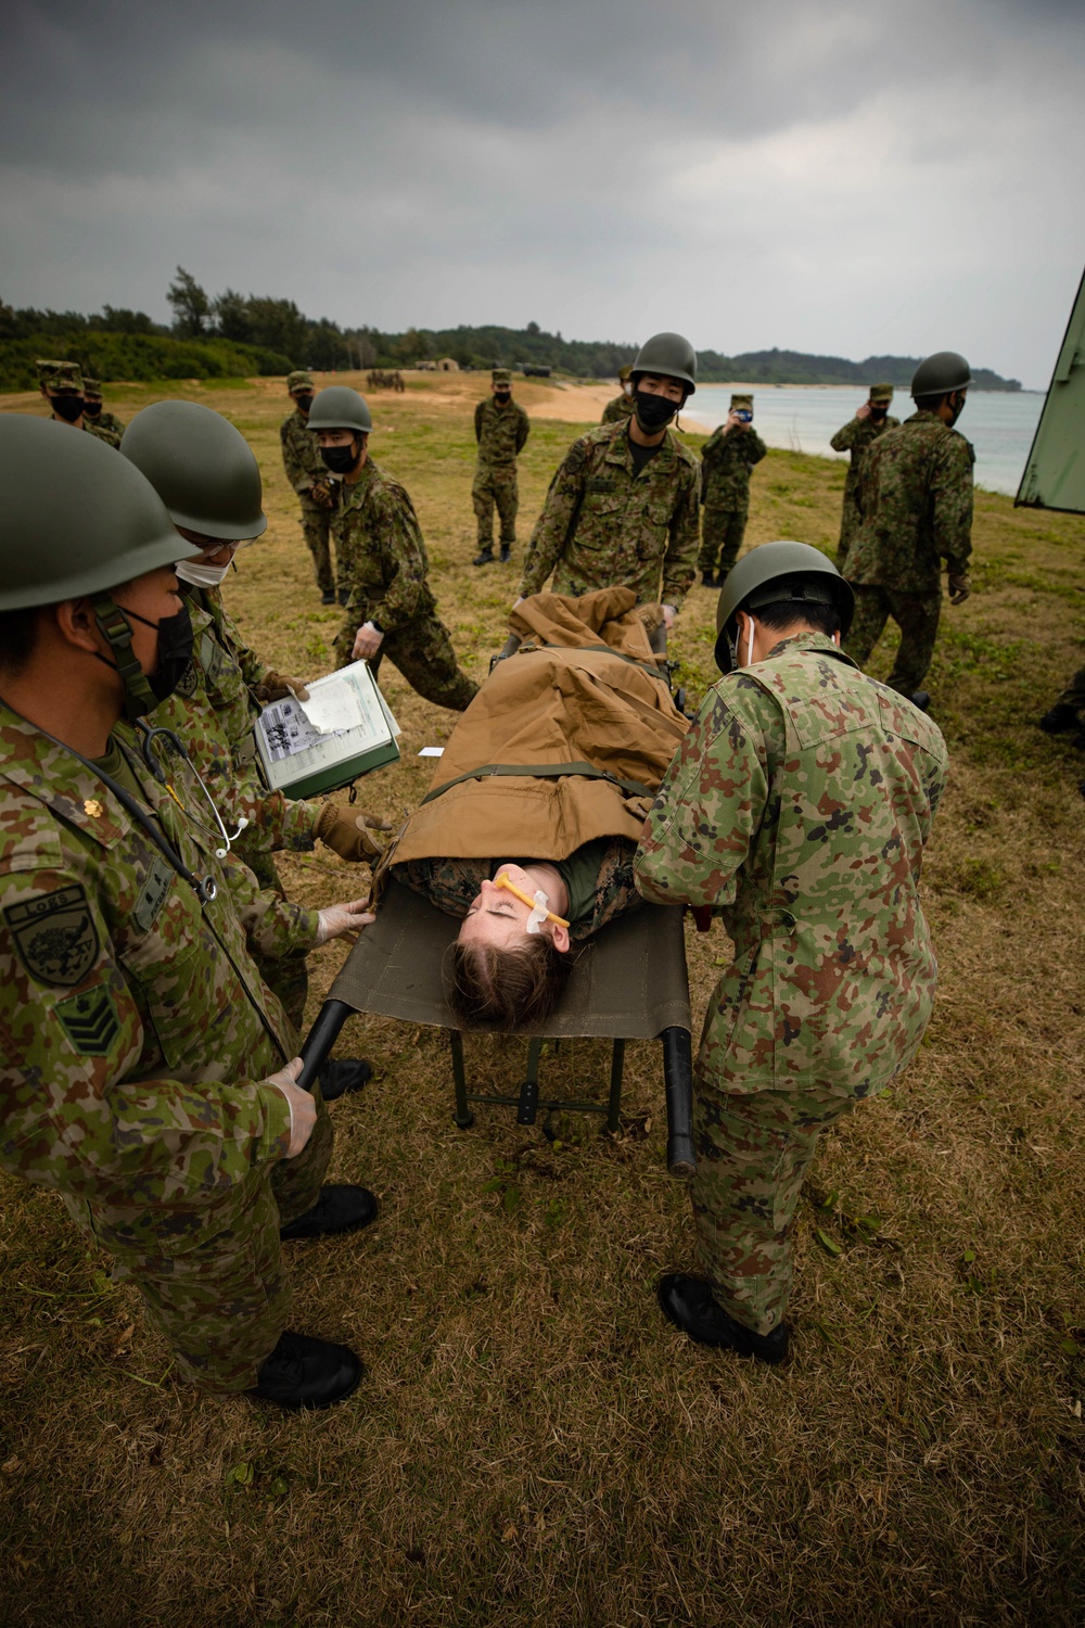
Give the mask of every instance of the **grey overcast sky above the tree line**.
[[1082, 0], [8, 0], [0, 296], [963, 350], [1046, 387]]

